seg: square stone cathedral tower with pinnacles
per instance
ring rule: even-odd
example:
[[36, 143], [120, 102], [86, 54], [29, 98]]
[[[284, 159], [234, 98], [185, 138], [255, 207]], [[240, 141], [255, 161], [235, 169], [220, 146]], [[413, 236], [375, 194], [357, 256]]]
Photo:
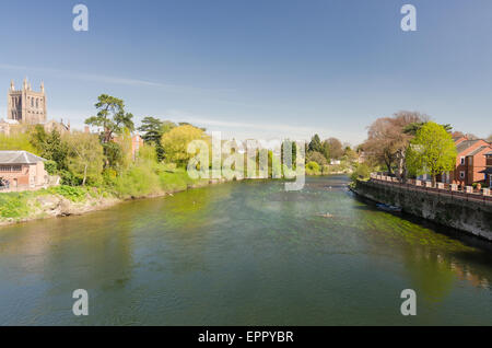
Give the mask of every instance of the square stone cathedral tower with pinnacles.
[[15, 91], [13, 81], [10, 82], [7, 118], [21, 124], [44, 124], [46, 121], [44, 83], [40, 84], [40, 91], [35, 92], [31, 89], [31, 83], [27, 83], [27, 79], [24, 79], [21, 91]]

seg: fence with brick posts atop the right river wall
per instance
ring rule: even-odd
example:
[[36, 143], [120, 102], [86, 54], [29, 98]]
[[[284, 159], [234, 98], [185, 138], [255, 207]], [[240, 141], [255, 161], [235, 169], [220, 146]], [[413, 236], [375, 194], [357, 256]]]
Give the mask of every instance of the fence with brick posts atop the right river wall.
[[419, 179], [409, 179], [403, 184], [400, 183], [396, 177], [374, 173], [371, 174], [371, 181], [386, 186], [400, 187], [402, 189], [414, 192], [423, 192], [430, 195], [450, 197], [452, 199], [492, 205], [490, 188], [482, 188], [479, 190], [475, 189], [472, 186], [465, 186], [464, 189], [458, 189], [458, 185], [446, 183], [437, 183], [436, 187], [433, 187], [432, 182], [424, 182]]

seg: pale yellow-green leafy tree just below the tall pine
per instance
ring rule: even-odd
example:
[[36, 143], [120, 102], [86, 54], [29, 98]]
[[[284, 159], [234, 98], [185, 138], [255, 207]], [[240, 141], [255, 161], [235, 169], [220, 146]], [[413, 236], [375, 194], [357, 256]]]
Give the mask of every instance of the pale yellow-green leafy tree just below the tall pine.
[[101, 178], [104, 166], [104, 152], [97, 137], [74, 132], [66, 137], [70, 149], [68, 167], [75, 177], [82, 181], [82, 186], [89, 179], [97, 183]]

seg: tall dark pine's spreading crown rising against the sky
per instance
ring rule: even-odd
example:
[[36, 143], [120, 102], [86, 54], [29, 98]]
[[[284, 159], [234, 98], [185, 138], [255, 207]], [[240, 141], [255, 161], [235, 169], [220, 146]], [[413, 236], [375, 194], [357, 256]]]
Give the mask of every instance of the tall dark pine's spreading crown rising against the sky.
[[133, 115], [125, 111], [125, 102], [117, 97], [101, 94], [95, 107], [98, 109], [96, 116], [85, 120], [86, 125], [103, 128], [101, 140], [103, 143], [112, 141], [114, 134], [120, 134], [124, 128], [133, 131]]

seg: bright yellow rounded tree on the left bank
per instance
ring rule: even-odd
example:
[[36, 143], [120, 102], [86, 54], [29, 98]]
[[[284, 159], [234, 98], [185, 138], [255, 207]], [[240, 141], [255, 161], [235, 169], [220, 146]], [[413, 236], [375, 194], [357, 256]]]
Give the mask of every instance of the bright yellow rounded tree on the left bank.
[[188, 153], [188, 144], [192, 140], [206, 140], [203, 130], [185, 125], [171, 129], [162, 136], [161, 143], [164, 148], [164, 156], [167, 162], [186, 165], [192, 158]]

